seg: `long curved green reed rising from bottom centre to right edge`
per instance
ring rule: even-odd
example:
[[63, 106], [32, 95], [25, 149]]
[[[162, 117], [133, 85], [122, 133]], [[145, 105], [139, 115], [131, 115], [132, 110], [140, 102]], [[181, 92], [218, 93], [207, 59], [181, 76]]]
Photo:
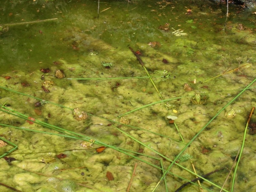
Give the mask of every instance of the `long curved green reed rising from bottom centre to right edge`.
[[233, 101], [235, 101], [248, 87], [250, 87], [254, 82], [256, 81], [256, 78], [249, 84], [247, 85], [239, 94], [236, 95], [235, 98], [233, 98], [231, 101], [228, 102], [228, 104], [226, 104], [222, 109], [220, 109], [220, 111], [214, 116], [212, 117], [212, 119], [206, 124], [204, 125], [204, 127], [196, 133], [196, 135], [188, 142], [188, 144], [180, 151], [180, 153], [176, 156], [176, 158], [172, 161], [172, 163], [169, 165], [169, 167], [166, 169], [166, 171], [164, 172], [164, 174], [162, 175], [162, 177], [160, 178], [160, 180], [158, 181], [158, 183], [156, 184], [156, 187], [153, 189], [152, 192], [156, 191], [156, 188], [159, 186], [159, 184], [162, 182], [162, 180], [164, 179], [165, 175], [167, 174], [167, 172], [170, 171], [170, 169], [172, 168], [173, 164], [179, 159], [179, 157], [182, 155], [182, 153], [188, 148], [188, 146], [198, 137], [198, 135], [204, 131], [204, 129], [225, 109], [227, 108]]

